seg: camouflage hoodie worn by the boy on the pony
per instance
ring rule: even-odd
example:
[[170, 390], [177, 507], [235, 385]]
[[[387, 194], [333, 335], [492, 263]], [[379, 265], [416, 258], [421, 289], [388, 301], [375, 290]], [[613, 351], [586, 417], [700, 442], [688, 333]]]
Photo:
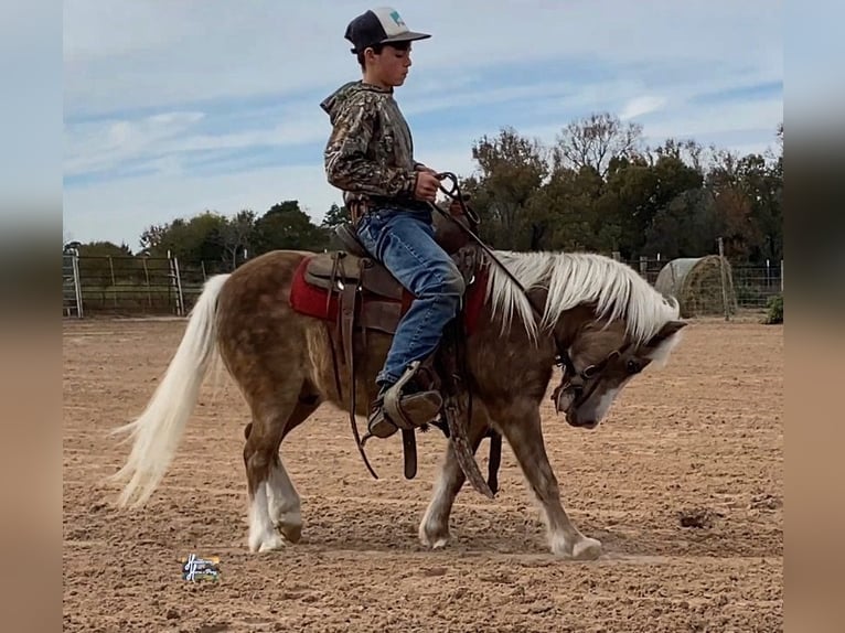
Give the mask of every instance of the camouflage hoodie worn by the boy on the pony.
[[410, 130], [393, 90], [350, 82], [320, 107], [332, 124], [323, 155], [325, 175], [344, 191], [347, 207], [352, 211], [355, 202], [414, 205], [419, 165], [414, 162]]

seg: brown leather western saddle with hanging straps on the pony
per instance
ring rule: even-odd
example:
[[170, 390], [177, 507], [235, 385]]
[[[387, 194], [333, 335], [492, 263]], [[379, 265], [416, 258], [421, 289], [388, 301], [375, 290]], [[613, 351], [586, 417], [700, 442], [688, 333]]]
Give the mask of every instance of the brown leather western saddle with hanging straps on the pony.
[[[479, 251], [473, 245], [468, 244], [469, 238], [458, 223], [464, 227], [472, 226], [474, 223], [467, 215], [454, 213], [452, 213], [452, 219], [443, 221], [435, 217], [435, 238], [452, 257], [467, 281], [467, 287], [470, 288], [475, 277]], [[304, 280], [311, 286], [325, 290], [327, 302], [332, 299], [338, 301], [338, 323], [334, 335], [331, 329], [328, 329], [332, 346], [335, 387], [339, 394], [344, 394], [338, 371], [338, 352], [334, 347], [334, 340], [338, 337], [341, 343], [341, 354], [349, 368], [350, 384], [345, 395], [352, 432], [364, 464], [370, 473], [378, 479], [364, 453], [355, 423], [356, 364], [365, 350], [367, 331], [394, 334], [414, 298], [382, 264], [370, 256], [351, 224], [339, 225], [334, 229], [333, 242], [331, 250], [313, 256], [308, 262]], [[449, 441], [460, 444], [460, 447], [456, 446], [456, 449], [463, 450], [456, 450], [456, 454], [468, 480], [479, 492], [492, 497], [499, 489], [498, 473], [501, 463], [502, 437], [492, 428], [486, 432], [485, 437], [490, 438], [490, 458], [488, 480], [484, 482], [478, 471], [478, 464], [472, 459], [473, 451], [468, 438], [472, 394], [467, 386], [468, 382], [463, 372], [464, 308], [461, 308], [461, 313], [447, 326], [435, 357], [424, 363], [424, 371], [420, 374], [422, 379], [429, 379], [431, 386], [440, 390], [443, 396], [440, 419], [431, 423], [438, 427]], [[328, 309], [327, 314], [329, 314]], [[460, 406], [464, 396], [469, 401], [468, 410], [462, 410]], [[415, 431], [400, 430], [405, 478], [414, 479], [417, 471]], [[426, 431], [427, 426], [421, 430]]]

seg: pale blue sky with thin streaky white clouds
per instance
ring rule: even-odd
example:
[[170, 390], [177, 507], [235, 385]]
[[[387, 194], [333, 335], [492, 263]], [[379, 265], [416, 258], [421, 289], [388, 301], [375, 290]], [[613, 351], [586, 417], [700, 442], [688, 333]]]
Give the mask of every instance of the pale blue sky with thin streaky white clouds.
[[[378, 6], [378, 4], [374, 4]], [[320, 101], [360, 69], [349, 0], [68, 0], [63, 238], [139, 248], [151, 224], [298, 200], [320, 222]], [[416, 42], [396, 98], [416, 159], [469, 175], [473, 141], [510, 126], [550, 144], [609, 111], [645, 141], [774, 149], [783, 12], [772, 0], [394, 3]]]

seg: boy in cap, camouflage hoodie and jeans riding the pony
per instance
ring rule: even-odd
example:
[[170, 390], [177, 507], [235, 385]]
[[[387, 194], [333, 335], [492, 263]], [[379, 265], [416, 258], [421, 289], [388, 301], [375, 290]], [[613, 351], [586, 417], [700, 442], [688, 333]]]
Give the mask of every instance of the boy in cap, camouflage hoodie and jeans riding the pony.
[[414, 160], [410, 130], [394, 99], [394, 88], [410, 68], [410, 43], [427, 37], [410, 31], [391, 8], [359, 15], [345, 39], [363, 76], [321, 103], [332, 124], [327, 178], [344, 192], [366, 250], [415, 297], [376, 376], [379, 389], [367, 430], [378, 438], [438, 417], [442, 398], [426, 390], [418, 369], [434, 355], [464, 292], [458, 267], [435, 242], [429, 202], [440, 181], [436, 171]]

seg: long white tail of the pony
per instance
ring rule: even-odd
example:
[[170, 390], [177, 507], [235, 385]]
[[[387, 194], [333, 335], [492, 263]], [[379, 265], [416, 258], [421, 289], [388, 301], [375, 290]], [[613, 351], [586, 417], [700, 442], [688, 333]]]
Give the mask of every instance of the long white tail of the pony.
[[191, 418], [208, 364], [216, 358], [217, 297], [228, 275], [205, 282], [191, 311], [182, 342], [143, 414], [114, 433], [130, 433], [132, 451], [111, 481], [126, 482], [118, 505], [139, 506], [150, 497], [170, 465]]

